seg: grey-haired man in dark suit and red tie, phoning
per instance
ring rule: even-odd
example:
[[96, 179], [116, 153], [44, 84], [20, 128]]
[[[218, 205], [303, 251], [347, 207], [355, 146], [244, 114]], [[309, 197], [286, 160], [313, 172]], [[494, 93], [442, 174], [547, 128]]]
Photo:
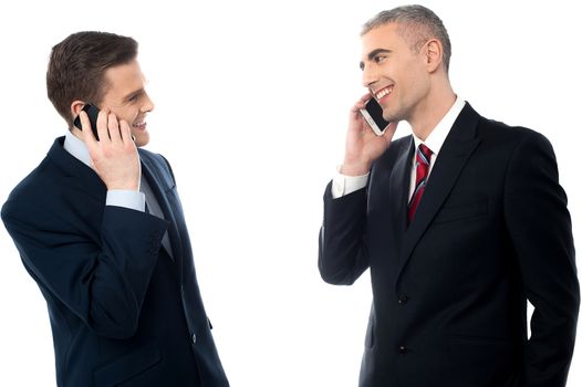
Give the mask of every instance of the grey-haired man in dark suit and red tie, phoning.
[[[371, 271], [360, 385], [564, 386], [580, 292], [551, 145], [454, 93], [430, 10], [381, 12], [362, 45], [370, 94], [325, 190], [319, 255], [329, 283]], [[360, 114], [370, 98], [392, 123], [381, 136]], [[413, 135], [392, 140], [399, 121]]]

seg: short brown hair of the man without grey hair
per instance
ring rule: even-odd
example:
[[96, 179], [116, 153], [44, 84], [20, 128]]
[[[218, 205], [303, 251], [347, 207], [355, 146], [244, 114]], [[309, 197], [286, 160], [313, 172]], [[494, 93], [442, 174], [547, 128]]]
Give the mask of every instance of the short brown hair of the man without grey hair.
[[137, 56], [137, 42], [108, 32], [76, 32], [52, 48], [46, 71], [49, 100], [73, 126], [71, 103], [101, 103], [107, 91], [105, 71]]

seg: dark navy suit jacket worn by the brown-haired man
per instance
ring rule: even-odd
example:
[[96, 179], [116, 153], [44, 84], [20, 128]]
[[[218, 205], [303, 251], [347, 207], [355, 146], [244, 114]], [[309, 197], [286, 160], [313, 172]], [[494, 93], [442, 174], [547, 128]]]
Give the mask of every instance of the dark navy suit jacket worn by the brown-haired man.
[[46, 299], [58, 385], [228, 386], [169, 165], [139, 149], [163, 220], [105, 206], [106, 187], [63, 138], [2, 207]]

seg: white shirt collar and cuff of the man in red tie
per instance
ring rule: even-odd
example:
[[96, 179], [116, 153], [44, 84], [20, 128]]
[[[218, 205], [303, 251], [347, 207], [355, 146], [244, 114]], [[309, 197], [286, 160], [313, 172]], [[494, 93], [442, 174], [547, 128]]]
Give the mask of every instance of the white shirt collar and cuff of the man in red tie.
[[[457, 119], [457, 117], [460, 114], [460, 111], [463, 111], [463, 107], [465, 107], [465, 101], [457, 97], [453, 106], [449, 108], [447, 114], [440, 119], [440, 122], [435, 126], [433, 132], [428, 135], [424, 144], [433, 151], [433, 155], [430, 156], [430, 166], [428, 169], [428, 176], [430, 176], [430, 171], [433, 170], [433, 166], [435, 165], [435, 161], [438, 157], [438, 154], [440, 151], [440, 148], [443, 147], [443, 143], [445, 143], [445, 139], [448, 136], [448, 133], [450, 132], [450, 128], [453, 127], [453, 124]], [[416, 160], [416, 153], [418, 151], [418, 145], [423, 144], [423, 140], [413, 133], [414, 138], [414, 146], [415, 146], [415, 153], [413, 157], [410, 158], [410, 164], [414, 166], [414, 163]], [[333, 178], [332, 182], [332, 197], [334, 199], [341, 198], [345, 195], [352, 194], [358, 189], [364, 188], [367, 185], [367, 179], [370, 177], [370, 172], [362, 176], [346, 176], [340, 174], [337, 171]], [[408, 199], [412, 198], [415, 185], [413, 181], [416, 181], [416, 168], [410, 168], [410, 186], [408, 189]]]

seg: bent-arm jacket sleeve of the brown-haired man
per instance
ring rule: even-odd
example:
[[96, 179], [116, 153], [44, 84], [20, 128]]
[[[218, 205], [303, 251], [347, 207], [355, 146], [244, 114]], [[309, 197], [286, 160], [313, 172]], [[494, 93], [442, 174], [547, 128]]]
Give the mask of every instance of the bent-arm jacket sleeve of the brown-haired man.
[[106, 206], [101, 230], [89, 230], [55, 212], [18, 198], [2, 207], [24, 266], [96, 334], [133, 336], [167, 222]]

